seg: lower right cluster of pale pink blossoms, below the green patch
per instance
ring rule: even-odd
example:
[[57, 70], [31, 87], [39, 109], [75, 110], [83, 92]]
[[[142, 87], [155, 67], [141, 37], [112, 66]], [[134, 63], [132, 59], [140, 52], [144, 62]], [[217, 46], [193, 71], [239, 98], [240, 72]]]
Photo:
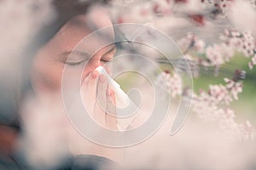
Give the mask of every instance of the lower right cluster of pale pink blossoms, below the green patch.
[[233, 99], [238, 99], [237, 94], [242, 90], [241, 82], [227, 78], [224, 81], [227, 82], [226, 86], [210, 85], [208, 93], [201, 90], [200, 94], [195, 94], [192, 110], [206, 122], [218, 122], [220, 129], [233, 139], [253, 139], [254, 130], [250, 122], [236, 123], [235, 111], [226, 107]]

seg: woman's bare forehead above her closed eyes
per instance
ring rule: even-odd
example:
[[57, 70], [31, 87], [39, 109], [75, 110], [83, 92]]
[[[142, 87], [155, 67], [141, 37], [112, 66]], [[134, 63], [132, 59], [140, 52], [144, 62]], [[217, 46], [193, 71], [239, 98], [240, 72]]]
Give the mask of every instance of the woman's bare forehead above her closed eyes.
[[[90, 36], [91, 34], [93, 36]], [[71, 51], [75, 47], [93, 53], [102, 44], [106, 44], [106, 41], [113, 42], [113, 40], [113, 25], [108, 15], [104, 11], [94, 9], [69, 20], [57, 32], [50, 44], [51, 47], [58, 48], [59, 53]]]

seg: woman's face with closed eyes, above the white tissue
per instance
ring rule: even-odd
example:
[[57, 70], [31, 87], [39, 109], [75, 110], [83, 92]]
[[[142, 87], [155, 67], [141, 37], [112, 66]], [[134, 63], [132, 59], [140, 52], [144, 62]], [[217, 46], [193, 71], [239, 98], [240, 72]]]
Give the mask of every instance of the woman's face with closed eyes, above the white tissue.
[[[84, 68], [83, 77], [87, 77], [97, 66], [113, 59], [115, 46], [109, 45], [95, 52], [94, 46], [101, 39], [91, 39], [90, 43], [82, 44], [84, 48], [74, 49], [77, 44], [92, 31], [112, 26], [108, 16], [100, 10], [93, 10], [69, 20], [36, 55], [32, 65], [32, 87], [36, 94], [52, 94], [61, 92], [61, 77], [64, 68], [75, 70], [88, 62]], [[113, 28], [113, 27], [111, 27]], [[108, 32], [114, 38], [113, 29]], [[74, 49], [74, 50], [73, 50]], [[72, 54], [72, 57], [68, 57]]]

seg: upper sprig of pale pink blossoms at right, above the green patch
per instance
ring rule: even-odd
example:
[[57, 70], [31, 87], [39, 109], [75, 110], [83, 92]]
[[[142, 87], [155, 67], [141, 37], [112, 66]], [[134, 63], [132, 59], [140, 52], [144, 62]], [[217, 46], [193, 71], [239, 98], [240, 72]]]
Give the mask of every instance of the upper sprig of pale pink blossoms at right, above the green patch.
[[241, 52], [245, 57], [252, 58], [248, 63], [250, 69], [255, 65], [256, 42], [250, 31], [240, 32], [225, 29], [220, 34], [220, 42], [212, 45], [206, 45], [206, 42], [189, 32], [178, 41], [178, 44], [184, 54], [193, 50], [198, 54], [205, 53], [206, 59], [200, 58], [203, 66], [218, 68], [229, 62], [236, 52]]

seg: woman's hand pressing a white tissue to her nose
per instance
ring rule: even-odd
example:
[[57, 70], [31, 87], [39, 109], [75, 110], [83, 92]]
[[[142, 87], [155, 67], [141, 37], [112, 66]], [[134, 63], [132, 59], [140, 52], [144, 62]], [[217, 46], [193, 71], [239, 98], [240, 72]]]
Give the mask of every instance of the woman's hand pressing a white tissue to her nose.
[[93, 71], [82, 83], [81, 95], [86, 111], [96, 123], [105, 128], [117, 129], [114, 94], [108, 88], [106, 77]]

